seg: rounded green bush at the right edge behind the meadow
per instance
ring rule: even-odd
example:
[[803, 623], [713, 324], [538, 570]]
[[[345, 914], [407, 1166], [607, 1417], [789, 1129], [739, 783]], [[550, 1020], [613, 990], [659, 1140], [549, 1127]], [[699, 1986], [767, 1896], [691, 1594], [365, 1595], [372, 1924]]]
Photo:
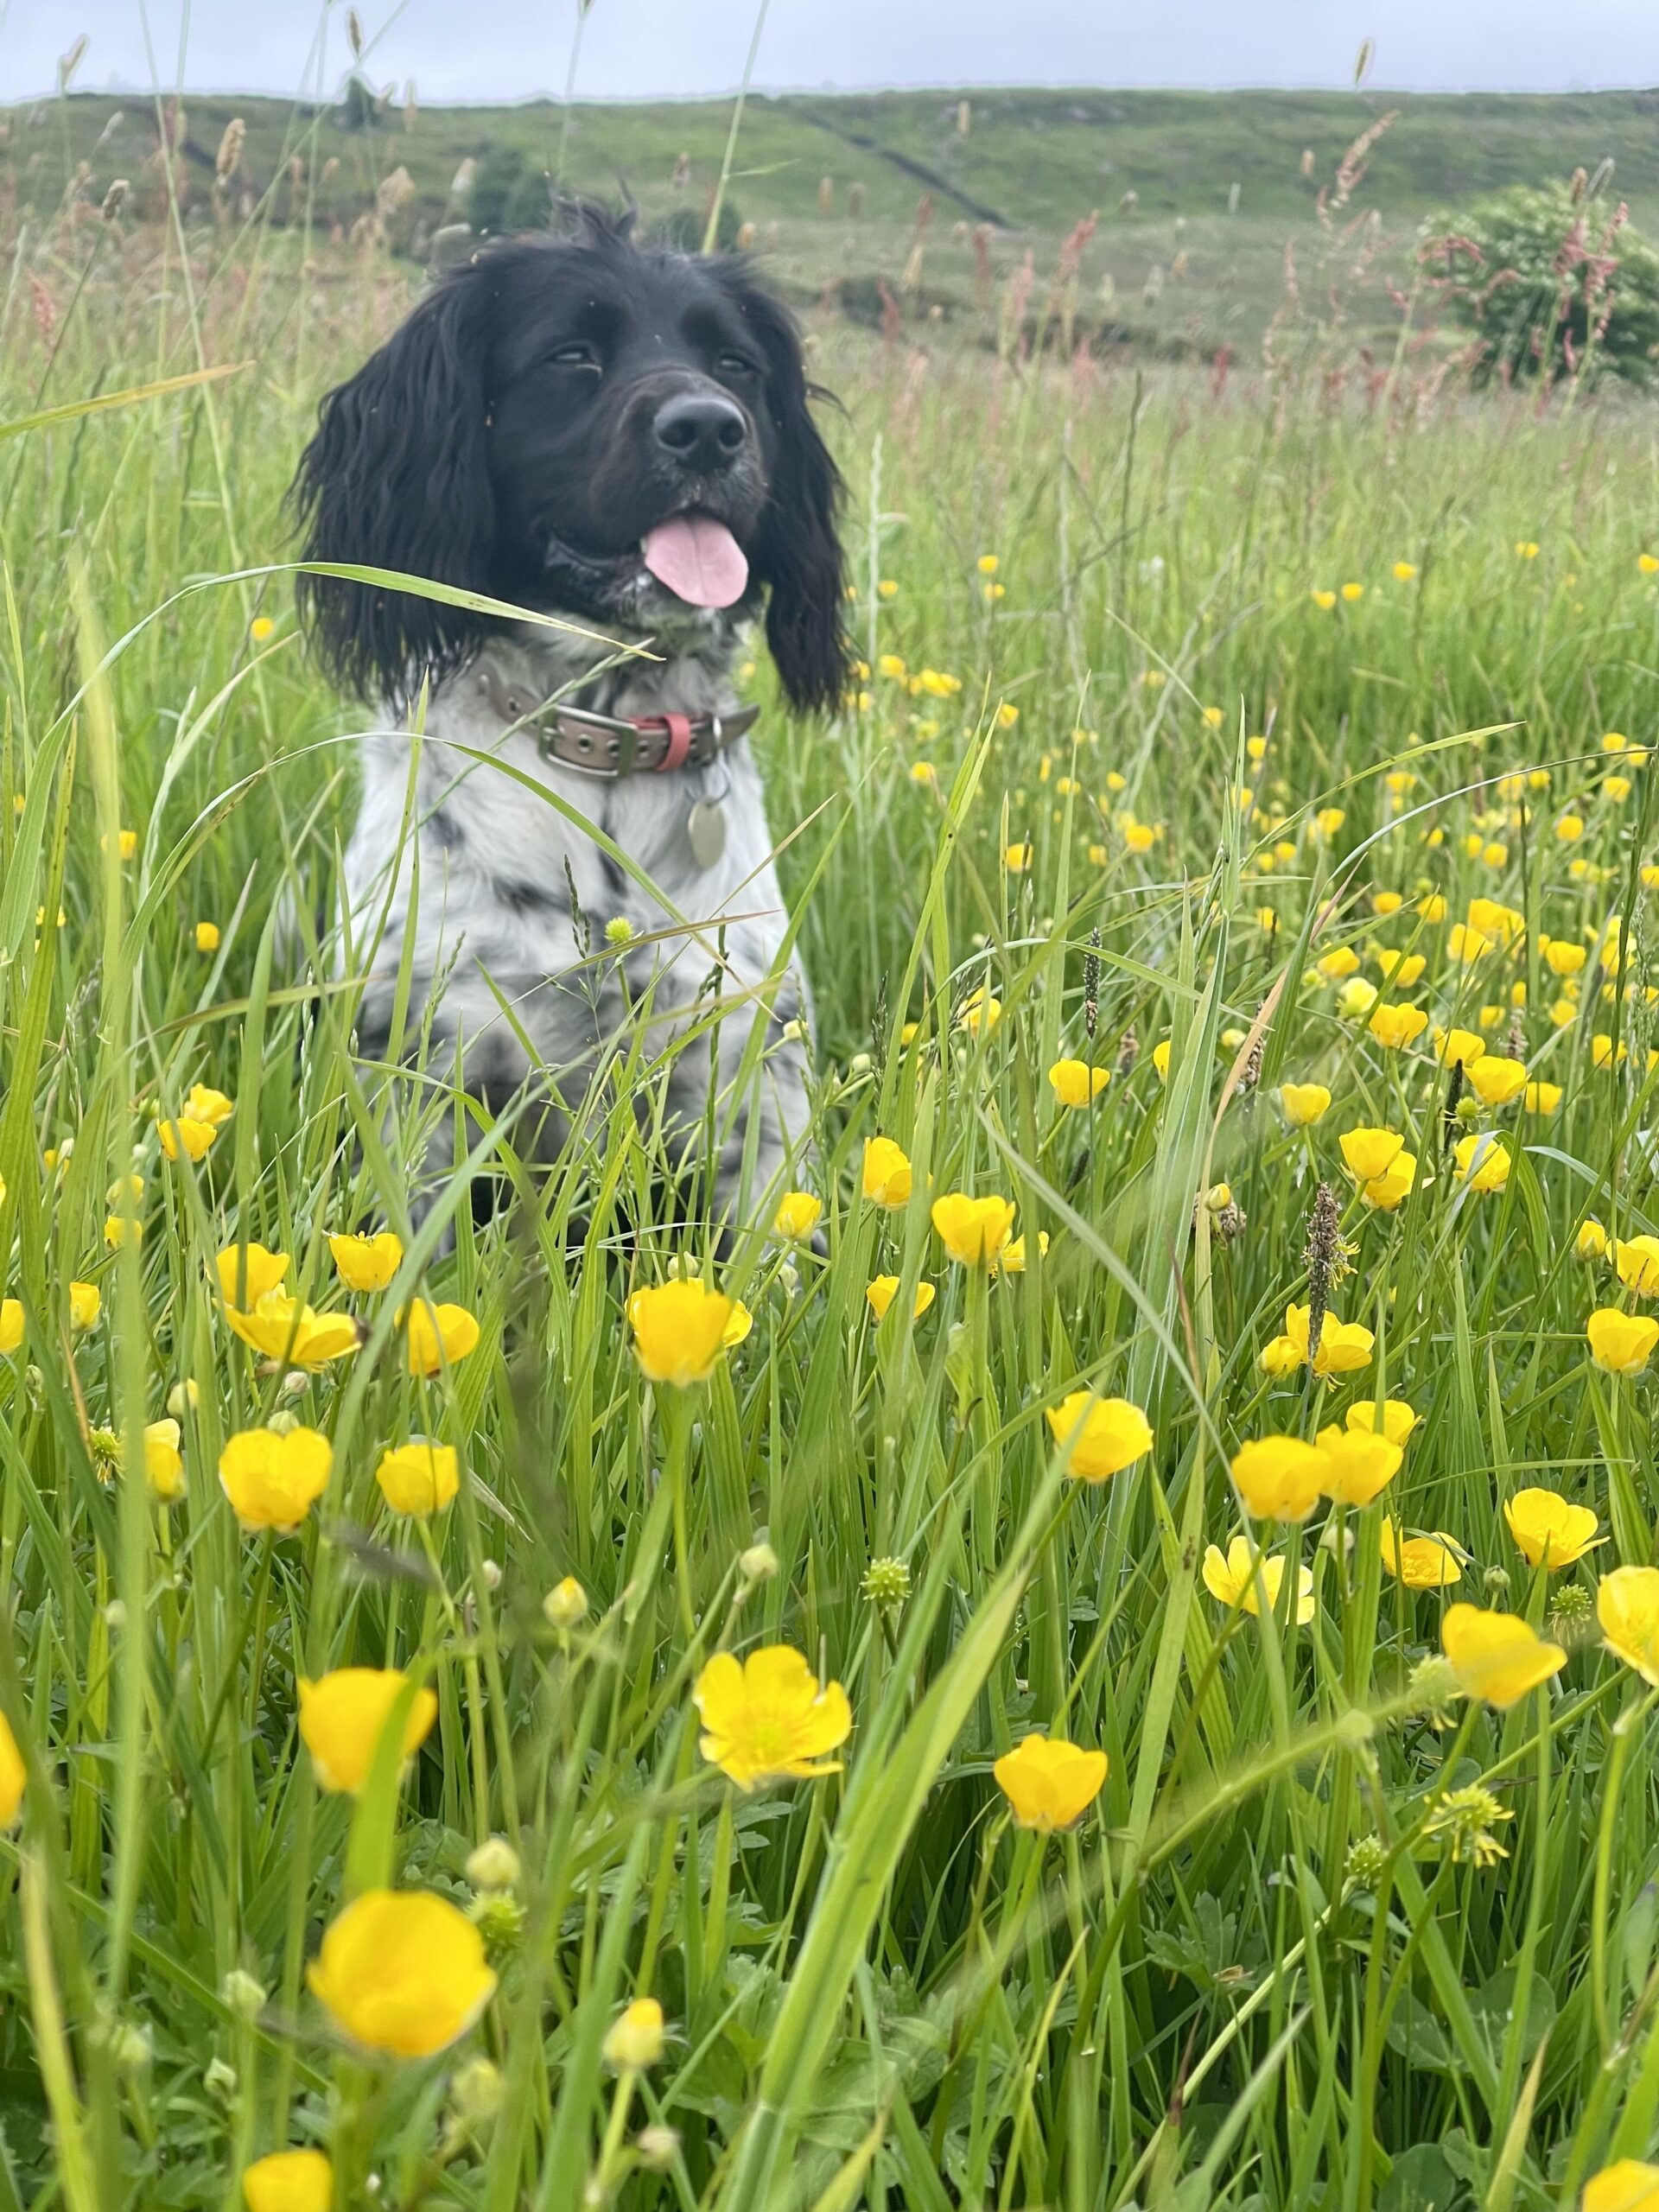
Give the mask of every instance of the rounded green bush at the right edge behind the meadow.
[[1475, 376], [1659, 376], [1659, 254], [1624, 204], [1571, 184], [1511, 186], [1422, 226], [1418, 259], [1478, 334]]

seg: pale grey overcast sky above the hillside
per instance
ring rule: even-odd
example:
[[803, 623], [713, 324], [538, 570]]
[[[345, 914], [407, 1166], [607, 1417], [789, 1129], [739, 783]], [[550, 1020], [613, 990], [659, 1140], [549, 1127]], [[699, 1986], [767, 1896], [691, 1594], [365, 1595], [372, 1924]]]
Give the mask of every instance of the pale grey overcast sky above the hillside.
[[[0, 0], [0, 100], [51, 91], [86, 31], [75, 84], [195, 91], [334, 91], [345, 4], [314, 0]], [[593, 0], [577, 93], [721, 93], [743, 75], [757, 0]], [[376, 84], [422, 100], [518, 100], [564, 88], [575, 0], [358, 0]], [[1376, 88], [1577, 91], [1659, 84], [1659, 0], [772, 0], [754, 82], [874, 84], [1285, 84], [1352, 80], [1376, 40]]]

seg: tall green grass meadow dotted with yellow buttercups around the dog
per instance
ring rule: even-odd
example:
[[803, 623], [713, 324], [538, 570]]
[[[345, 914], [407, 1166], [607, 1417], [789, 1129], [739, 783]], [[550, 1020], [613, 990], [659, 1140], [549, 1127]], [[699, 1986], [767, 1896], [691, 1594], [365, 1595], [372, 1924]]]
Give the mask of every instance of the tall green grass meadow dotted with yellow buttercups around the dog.
[[546, 1175], [352, 1051], [283, 491], [416, 272], [7, 265], [0, 2212], [1659, 2203], [1650, 405], [816, 323], [717, 1250], [639, 1051]]

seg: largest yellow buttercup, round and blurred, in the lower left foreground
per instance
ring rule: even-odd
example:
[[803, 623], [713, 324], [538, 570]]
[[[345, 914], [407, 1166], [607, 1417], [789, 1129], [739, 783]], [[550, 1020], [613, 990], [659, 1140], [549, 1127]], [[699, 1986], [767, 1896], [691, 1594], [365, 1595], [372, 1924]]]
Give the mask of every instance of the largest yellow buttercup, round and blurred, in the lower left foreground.
[[305, 1980], [352, 2042], [403, 2059], [445, 2051], [495, 1995], [484, 1938], [425, 1889], [365, 1889], [330, 1922]]

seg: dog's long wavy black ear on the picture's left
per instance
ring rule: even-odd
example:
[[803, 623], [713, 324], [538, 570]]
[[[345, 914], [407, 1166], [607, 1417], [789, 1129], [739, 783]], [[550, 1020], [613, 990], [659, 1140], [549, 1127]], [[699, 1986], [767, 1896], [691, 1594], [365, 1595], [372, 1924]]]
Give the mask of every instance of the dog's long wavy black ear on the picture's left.
[[[462, 268], [327, 394], [290, 493], [305, 560], [489, 591], [487, 314], [489, 285]], [[436, 679], [478, 635], [460, 608], [341, 577], [303, 575], [299, 599], [327, 668], [372, 699]]]

